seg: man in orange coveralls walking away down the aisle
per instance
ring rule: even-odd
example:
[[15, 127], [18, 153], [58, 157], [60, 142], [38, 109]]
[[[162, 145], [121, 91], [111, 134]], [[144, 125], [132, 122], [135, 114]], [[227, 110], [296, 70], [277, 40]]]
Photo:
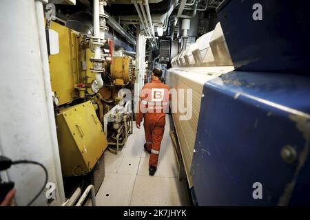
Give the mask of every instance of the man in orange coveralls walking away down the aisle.
[[161, 69], [154, 68], [152, 82], [147, 83], [141, 90], [138, 113], [136, 114], [136, 127], [140, 129], [140, 123], [144, 118], [145, 151], [150, 153], [149, 175], [156, 172], [159, 149], [165, 131], [165, 113], [169, 107], [169, 87], [161, 83]]

